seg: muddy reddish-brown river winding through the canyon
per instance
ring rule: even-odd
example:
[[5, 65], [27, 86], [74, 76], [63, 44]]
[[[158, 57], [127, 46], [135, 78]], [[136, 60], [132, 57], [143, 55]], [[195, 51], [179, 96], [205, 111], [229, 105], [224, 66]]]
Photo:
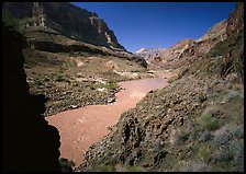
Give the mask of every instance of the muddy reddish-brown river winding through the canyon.
[[108, 127], [118, 123], [121, 114], [135, 107], [150, 90], [165, 88], [168, 71], [159, 72], [158, 78], [120, 82], [123, 90], [116, 93], [116, 101], [109, 105], [89, 105], [46, 117], [60, 135], [60, 158], [81, 164], [83, 154], [94, 142], [109, 135]]

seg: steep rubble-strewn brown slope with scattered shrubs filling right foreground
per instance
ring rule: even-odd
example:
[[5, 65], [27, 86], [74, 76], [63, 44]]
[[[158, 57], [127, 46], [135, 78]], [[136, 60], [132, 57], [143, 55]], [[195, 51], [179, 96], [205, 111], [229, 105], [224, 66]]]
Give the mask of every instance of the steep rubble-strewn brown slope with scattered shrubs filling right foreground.
[[204, 55], [199, 45], [193, 47], [186, 73], [122, 114], [77, 170], [243, 172], [243, 12], [244, 4], [237, 3], [228, 18], [227, 38]]

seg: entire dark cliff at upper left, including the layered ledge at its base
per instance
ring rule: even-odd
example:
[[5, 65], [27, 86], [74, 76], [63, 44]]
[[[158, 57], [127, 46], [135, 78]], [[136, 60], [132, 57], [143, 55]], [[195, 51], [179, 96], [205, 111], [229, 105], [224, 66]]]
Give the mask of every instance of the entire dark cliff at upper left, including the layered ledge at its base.
[[144, 58], [118, 43], [102, 19], [86, 9], [67, 2], [4, 2], [2, 9], [20, 19], [18, 28], [33, 49], [111, 55], [147, 67]]

